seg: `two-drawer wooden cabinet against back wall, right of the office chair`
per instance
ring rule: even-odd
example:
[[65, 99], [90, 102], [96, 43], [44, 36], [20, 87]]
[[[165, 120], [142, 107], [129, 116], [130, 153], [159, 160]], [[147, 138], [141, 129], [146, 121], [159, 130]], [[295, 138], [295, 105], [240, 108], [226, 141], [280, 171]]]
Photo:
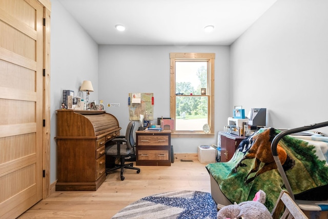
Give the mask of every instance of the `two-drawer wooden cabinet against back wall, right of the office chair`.
[[171, 166], [171, 131], [136, 131], [136, 165]]

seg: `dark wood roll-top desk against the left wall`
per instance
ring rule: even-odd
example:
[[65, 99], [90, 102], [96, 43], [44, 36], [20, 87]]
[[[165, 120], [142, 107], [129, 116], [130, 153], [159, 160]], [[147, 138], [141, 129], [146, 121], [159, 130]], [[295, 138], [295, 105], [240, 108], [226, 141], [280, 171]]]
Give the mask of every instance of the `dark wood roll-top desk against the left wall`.
[[106, 179], [105, 143], [119, 136], [105, 111], [57, 110], [56, 191], [95, 191]]

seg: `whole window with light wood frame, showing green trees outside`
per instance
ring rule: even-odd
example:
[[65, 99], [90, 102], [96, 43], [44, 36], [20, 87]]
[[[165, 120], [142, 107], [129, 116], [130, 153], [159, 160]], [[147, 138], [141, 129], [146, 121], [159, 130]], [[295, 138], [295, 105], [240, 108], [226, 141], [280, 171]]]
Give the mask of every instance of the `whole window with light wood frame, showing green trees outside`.
[[[171, 53], [172, 137], [214, 135], [214, 53]], [[209, 124], [209, 134], [203, 125]]]

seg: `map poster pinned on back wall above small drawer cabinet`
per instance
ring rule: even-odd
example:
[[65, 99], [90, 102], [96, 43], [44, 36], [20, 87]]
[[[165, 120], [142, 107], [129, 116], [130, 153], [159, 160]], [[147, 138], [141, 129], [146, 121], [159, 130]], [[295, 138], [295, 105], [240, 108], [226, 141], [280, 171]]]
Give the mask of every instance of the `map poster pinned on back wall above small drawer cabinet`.
[[[134, 103], [133, 99], [139, 96], [133, 96], [137, 93], [130, 93], [129, 99], [132, 100], [132, 103], [129, 105], [129, 117], [130, 120], [139, 121], [140, 115], [148, 115], [148, 120], [154, 119], [154, 105], [153, 105], [153, 93], [138, 93], [140, 94], [140, 102], [136, 101]], [[138, 99], [138, 98], [137, 98]]]

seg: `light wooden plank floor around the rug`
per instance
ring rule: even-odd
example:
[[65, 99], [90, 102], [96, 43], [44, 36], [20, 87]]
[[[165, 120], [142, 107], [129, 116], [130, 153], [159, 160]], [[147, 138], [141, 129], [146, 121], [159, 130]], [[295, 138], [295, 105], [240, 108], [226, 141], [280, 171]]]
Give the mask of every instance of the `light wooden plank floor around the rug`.
[[56, 191], [38, 202], [18, 218], [111, 218], [122, 208], [151, 194], [197, 190], [210, 192], [210, 176], [198, 160], [171, 166], [137, 166], [126, 169], [125, 180], [120, 180], [119, 170], [109, 173], [97, 191]]

